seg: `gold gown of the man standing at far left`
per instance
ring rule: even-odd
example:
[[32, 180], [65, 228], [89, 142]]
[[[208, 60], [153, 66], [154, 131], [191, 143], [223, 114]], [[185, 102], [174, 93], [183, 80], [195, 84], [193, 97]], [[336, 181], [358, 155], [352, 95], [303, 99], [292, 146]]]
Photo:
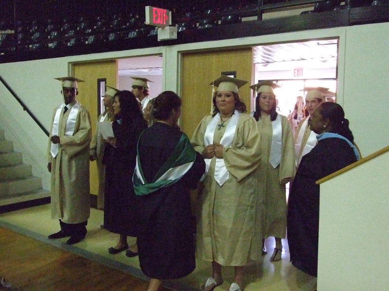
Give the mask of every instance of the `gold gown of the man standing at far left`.
[[[53, 120], [55, 116], [54, 110]], [[52, 162], [51, 208], [52, 218], [75, 224], [87, 221], [90, 214], [89, 190], [89, 144], [91, 140], [90, 116], [88, 110], [80, 107], [72, 136], [65, 136], [68, 110], [59, 116], [58, 135], [60, 146], [55, 158], [48, 145], [48, 160]], [[53, 122], [52, 129], [53, 131]], [[50, 138], [51, 138], [50, 133]]]

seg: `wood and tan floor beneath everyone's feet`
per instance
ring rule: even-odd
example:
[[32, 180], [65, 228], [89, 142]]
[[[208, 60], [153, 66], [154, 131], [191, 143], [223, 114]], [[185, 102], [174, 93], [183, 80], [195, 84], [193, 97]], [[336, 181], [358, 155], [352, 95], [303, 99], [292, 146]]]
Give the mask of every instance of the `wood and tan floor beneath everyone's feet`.
[[[48, 204], [0, 214], [0, 276], [24, 291], [146, 291], [148, 278], [141, 272], [138, 257], [108, 254], [107, 248], [118, 242], [118, 235], [100, 228], [103, 221], [104, 212], [91, 209], [85, 240], [67, 245], [67, 238], [47, 238], [59, 228]], [[136, 242], [136, 238], [127, 239], [130, 245]], [[266, 240], [266, 247], [268, 254], [245, 268], [245, 291], [316, 290], [316, 277], [290, 263], [286, 239], [281, 261], [269, 260], [274, 238]], [[211, 263], [197, 259], [194, 272], [165, 281], [164, 291], [198, 291], [211, 274]], [[223, 277], [224, 283], [215, 291], [230, 288], [233, 268], [224, 267]]]

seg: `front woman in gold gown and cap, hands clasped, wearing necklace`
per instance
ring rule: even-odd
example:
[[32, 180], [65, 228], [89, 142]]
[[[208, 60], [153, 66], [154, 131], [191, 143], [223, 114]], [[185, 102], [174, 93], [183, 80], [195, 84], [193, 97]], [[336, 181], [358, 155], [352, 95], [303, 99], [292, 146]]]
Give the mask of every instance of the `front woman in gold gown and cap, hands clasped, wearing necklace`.
[[191, 140], [208, 169], [197, 214], [197, 256], [212, 262], [212, 277], [203, 291], [223, 283], [222, 266], [235, 269], [230, 291], [243, 290], [244, 266], [260, 256], [256, 247], [262, 239], [263, 201], [256, 191], [260, 135], [238, 95], [238, 87], [245, 83], [227, 76], [212, 82], [218, 86], [213, 114], [202, 119]]

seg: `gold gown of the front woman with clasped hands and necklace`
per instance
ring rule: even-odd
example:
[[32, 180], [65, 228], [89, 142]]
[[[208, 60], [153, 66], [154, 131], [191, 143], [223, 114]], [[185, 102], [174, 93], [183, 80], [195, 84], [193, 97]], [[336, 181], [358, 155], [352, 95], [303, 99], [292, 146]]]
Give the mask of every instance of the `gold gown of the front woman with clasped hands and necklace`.
[[[200, 153], [205, 147], [204, 134], [211, 120], [211, 115], [204, 117], [193, 134], [191, 143]], [[215, 128], [215, 143], [220, 143], [227, 122], [220, 130]], [[202, 182], [197, 214], [198, 258], [214, 260], [223, 266], [243, 266], [249, 259], [259, 259], [263, 197], [256, 188], [260, 154], [255, 119], [242, 113], [231, 147], [223, 148], [228, 180], [220, 186], [213, 178], [216, 161], [213, 157]]]

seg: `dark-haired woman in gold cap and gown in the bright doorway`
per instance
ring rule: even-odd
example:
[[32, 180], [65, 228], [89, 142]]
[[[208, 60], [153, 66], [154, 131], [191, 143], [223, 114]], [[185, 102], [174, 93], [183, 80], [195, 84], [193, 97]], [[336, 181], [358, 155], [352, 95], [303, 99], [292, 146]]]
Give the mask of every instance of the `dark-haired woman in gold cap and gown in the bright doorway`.
[[287, 117], [276, 112], [277, 102], [273, 89], [277, 87], [272, 81], [263, 81], [250, 87], [257, 92], [253, 116], [261, 132], [258, 192], [264, 195], [262, 254], [267, 253], [265, 239], [274, 237], [276, 246], [271, 261], [281, 260], [281, 239], [286, 234], [285, 184], [295, 174], [293, 134]]

